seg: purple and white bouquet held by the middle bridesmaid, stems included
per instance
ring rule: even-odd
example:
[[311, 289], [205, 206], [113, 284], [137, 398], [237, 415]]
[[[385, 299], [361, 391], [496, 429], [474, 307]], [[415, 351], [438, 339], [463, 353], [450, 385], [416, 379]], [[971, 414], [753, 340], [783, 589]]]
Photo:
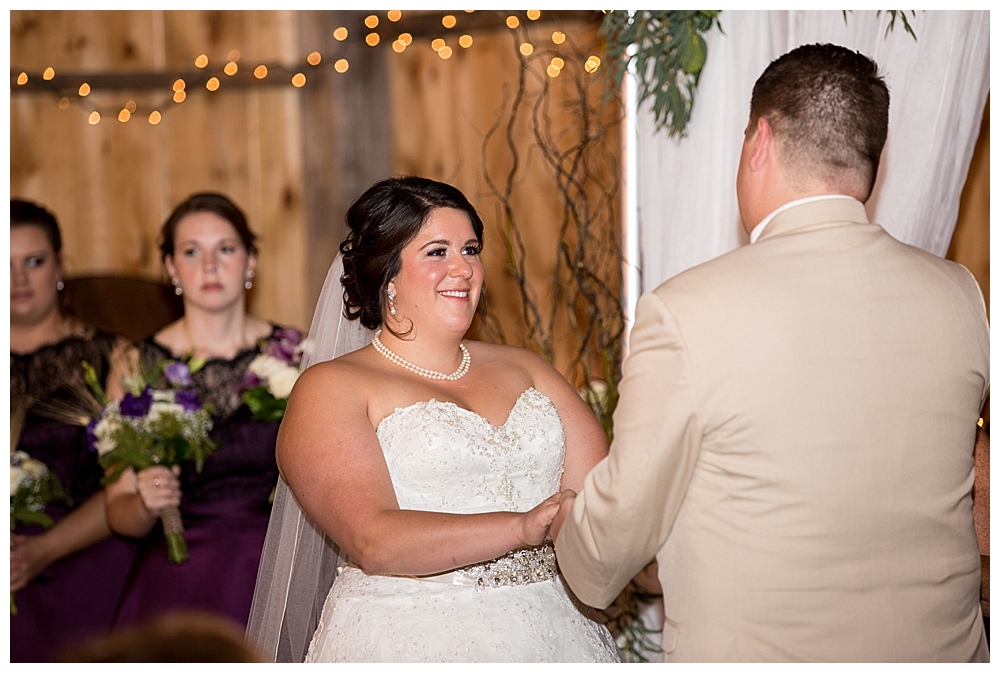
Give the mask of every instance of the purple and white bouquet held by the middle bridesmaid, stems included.
[[[131, 467], [138, 472], [153, 465], [172, 467], [191, 461], [201, 472], [205, 458], [217, 448], [209, 439], [211, 410], [198, 399], [191, 374], [204, 360], [161, 361], [145, 376], [125, 379], [127, 392], [120, 402], [110, 402], [97, 381], [94, 368], [84, 363], [84, 379], [103, 405], [87, 426], [91, 446], [106, 470], [102, 483], [121, 477]], [[161, 375], [169, 388], [155, 389]], [[172, 507], [160, 516], [170, 561], [188, 560], [187, 541], [180, 512]]]

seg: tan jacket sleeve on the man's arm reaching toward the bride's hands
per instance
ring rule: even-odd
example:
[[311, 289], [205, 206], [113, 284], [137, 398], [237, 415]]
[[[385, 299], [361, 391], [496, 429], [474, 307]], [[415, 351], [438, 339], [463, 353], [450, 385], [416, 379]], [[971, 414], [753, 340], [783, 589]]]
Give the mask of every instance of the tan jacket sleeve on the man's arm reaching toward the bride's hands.
[[683, 334], [655, 293], [639, 299], [629, 345], [611, 452], [555, 529], [560, 571], [583, 602], [598, 608], [663, 546], [701, 449]]

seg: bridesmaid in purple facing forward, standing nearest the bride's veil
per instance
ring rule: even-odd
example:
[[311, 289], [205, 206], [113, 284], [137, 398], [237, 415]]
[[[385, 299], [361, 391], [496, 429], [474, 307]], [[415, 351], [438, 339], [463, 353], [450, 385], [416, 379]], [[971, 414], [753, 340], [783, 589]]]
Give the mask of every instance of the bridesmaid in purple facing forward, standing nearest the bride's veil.
[[[125, 470], [105, 495], [111, 528], [141, 540], [116, 625], [146, 621], [174, 609], [201, 609], [245, 628], [257, 565], [278, 479], [277, 421], [254, 420], [241, 399], [250, 363], [286, 337], [297, 336], [246, 312], [257, 264], [256, 236], [240, 209], [220, 194], [200, 193], [178, 205], [161, 232], [163, 263], [183, 317], [141, 342], [143, 367], [192, 354], [207, 360], [193, 376], [214, 410], [211, 437], [219, 449], [199, 474], [193, 465]], [[287, 341], [283, 342], [287, 345]], [[190, 560], [169, 562], [160, 514], [180, 507]]]

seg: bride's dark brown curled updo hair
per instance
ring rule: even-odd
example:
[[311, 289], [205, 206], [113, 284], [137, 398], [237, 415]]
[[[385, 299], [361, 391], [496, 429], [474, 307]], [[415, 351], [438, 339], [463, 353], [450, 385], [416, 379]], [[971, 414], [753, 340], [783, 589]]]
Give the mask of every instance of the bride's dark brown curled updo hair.
[[349, 233], [340, 244], [344, 255], [344, 316], [377, 329], [385, 315], [386, 288], [402, 268], [403, 248], [437, 208], [469, 216], [480, 247], [483, 221], [459, 190], [416, 176], [388, 178], [368, 188], [347, 210]]

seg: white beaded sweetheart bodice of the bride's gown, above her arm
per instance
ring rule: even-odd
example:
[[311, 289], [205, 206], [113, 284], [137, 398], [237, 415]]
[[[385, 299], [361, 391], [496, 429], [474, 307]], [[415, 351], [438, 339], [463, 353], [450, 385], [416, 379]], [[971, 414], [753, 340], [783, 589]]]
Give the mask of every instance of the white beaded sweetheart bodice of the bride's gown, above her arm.
[[377, 434], [403, 509], [527, 511], [559, 491], [563, 427], [555, 405], [534, 388], [499, 427], [432, 399], [396, 409]]

